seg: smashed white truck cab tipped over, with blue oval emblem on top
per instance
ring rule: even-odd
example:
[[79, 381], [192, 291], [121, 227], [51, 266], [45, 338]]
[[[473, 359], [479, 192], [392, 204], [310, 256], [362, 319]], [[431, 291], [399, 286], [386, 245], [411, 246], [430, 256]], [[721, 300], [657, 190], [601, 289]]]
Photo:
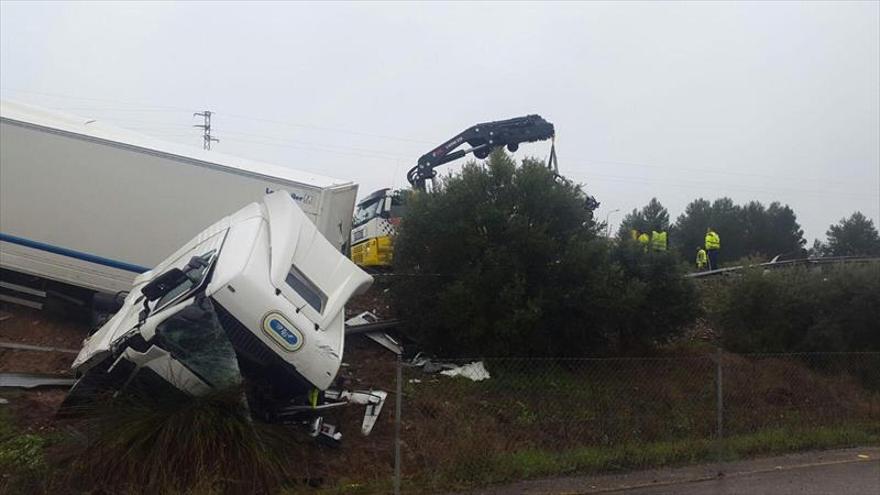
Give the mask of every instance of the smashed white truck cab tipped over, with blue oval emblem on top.
[[290, 194], [268, 194], [135, 279], [84, 341], [64, 407], [102, 392], [200, 396], [242, 386], [254, 416], [338, 440], [321, 411], [366, 404], [372, 425], [385, 398], [330, 389], [342, 363], [344, 306], [371, 283]]

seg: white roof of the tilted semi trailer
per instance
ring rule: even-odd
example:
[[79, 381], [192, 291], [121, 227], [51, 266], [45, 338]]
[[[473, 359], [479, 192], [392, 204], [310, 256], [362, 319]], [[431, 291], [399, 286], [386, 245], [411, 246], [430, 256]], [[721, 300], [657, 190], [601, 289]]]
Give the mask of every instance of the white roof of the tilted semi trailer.
[[32, 126], [76, 134], [93, 140], [107, 141], [124, 146], [140, 148], [152, 153], [171, 155], [186, 161], [202, 162], [214, 166], [241, 170], [246, 173], [274, 177], [306, 186], [329, 188], [354, 185], [353, 181], [335, 179], [324, 175], [294, 170], [292, 168], [261, 163], [246, 158], [205, 151], [178, 143], [162, 141], [128, 129], [108, 125], [95, 119], [48, 110], [24, 103], [0, 100], [0, 117]]

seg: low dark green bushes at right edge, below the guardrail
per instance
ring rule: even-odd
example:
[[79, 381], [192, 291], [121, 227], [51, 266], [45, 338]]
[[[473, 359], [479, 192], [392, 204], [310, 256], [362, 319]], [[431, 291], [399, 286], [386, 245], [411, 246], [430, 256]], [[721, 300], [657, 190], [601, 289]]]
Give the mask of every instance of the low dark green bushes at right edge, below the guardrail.
[[880, 265], [752, 269], [716, 288], [730, 351], [880, 351]]

